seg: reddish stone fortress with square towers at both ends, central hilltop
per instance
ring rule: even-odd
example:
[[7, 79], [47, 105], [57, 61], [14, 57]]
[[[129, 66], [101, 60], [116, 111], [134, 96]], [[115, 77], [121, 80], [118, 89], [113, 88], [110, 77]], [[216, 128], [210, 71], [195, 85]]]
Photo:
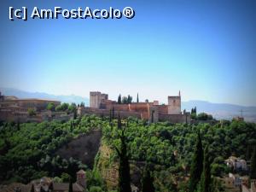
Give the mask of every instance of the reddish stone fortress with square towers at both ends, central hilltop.
[[181, 96], [168, 96], [168, 105], [160, 105], [154, 102], [131, 102], [130, 104], [119, 104], [108, 99], [108, 94], [101, 92], [90, 92], [90, 107], [79, 107], [79, 115], [95, 113], [97, 115], [109, 116], [109, 111], [117, 118], [120, 114], [123, 118], [136, 117], [147, 119], [149, 122], [170, 121], [172, 123], [190, 122], [190, 113], [181, 111]]

